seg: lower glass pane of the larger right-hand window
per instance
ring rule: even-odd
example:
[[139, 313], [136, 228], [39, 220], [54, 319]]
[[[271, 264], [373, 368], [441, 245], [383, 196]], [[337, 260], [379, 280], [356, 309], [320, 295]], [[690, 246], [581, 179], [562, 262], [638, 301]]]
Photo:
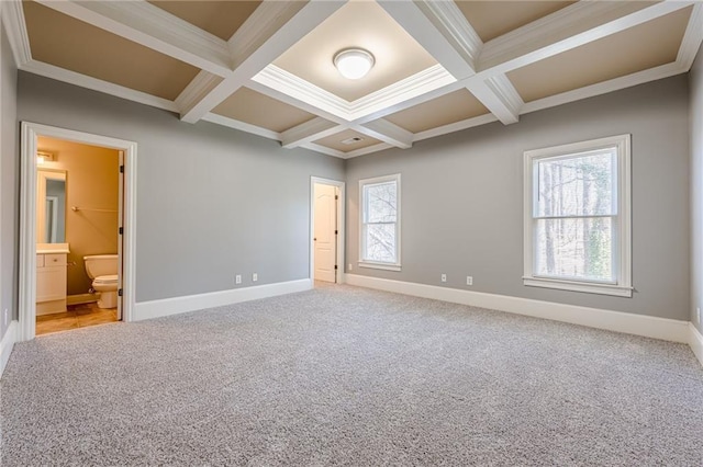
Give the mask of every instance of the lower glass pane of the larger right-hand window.
[[535, 275], [614, 282], [610, 217], [537, 220]]

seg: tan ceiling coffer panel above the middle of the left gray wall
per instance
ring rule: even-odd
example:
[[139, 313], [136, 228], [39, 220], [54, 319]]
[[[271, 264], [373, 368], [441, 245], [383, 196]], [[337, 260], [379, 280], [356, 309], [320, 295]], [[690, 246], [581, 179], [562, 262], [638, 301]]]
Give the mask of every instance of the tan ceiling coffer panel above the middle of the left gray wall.
[[311, 113], [248, 88], [239, 88], [237, 92], [217, 105], [212, 113], [277, 133], [315, 117]]

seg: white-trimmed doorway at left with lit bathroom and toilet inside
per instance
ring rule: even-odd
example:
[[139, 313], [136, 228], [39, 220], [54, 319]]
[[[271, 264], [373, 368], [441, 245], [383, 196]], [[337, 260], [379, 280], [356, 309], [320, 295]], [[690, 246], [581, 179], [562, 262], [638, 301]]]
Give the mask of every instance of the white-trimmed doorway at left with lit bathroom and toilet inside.
[[22, 340], [130, 320], [135, 158], [131, 141], [22, 124]]

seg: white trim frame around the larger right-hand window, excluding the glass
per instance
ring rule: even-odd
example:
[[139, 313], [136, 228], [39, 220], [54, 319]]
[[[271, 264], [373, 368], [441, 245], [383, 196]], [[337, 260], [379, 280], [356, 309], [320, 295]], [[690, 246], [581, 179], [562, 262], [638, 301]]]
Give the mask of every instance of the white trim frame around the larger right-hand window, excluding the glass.
[[[536, 159], [587, 152], [609, 147], [617, 147], [617, 248], [614, 255], [615, 284], [563, 278], [538, 277], [534, 275], [534, 221], [533, 221], [533, 162]], [[534, 149], [524, 153], [524, 275], [523, 284], [532, 287], [557, 288], [561, 291], [584, 292], [590, 294], [632, 297], [632, 164], [631, 135], [617, 135], [607, 138], [551, 148]]]

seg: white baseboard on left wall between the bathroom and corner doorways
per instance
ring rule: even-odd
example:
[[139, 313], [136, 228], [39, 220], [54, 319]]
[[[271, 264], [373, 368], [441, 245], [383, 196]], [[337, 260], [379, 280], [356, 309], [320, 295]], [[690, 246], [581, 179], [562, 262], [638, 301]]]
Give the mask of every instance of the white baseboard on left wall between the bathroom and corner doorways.
[[141, 301], [134, 306], [133, 321], [160, 318], [196, 311], [203, 308], [221, 307], [241, 301], [257, 300], [277, 295], [310, 291], [312, 282], [309, 278], [279, 282], [276, 284], [257, 285], [254, 287], [234, 288], [231, 291], [212, 292], [209, 294], [188, 295], [186, 297], [165, 298], [163, 300]]

